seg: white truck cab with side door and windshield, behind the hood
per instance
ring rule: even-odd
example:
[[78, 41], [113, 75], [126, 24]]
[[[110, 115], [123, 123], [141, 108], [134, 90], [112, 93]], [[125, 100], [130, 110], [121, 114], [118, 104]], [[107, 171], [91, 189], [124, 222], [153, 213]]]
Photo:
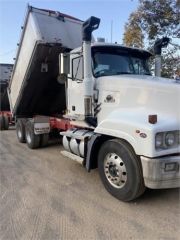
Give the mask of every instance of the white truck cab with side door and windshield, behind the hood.
[[[148, 59], [151, 56], [150, 52], [136, 48], [128, 48], [118, 44], [93, 43], [91, 45], [91, 54], [92, 68], [90, 74], [92, 75], [94, 85], [94, 104], [100, 104], [98, 97], [99, 94], [102, 94], [101, 82], [104, 79], [109, 79], [111, 76], [151, 75], [148, 67]], [[68, 113], [70, 115], [76, 115], [77, 119], [82, 119], [84, 115], [83, 101], [77, 103], [81, 95], [83, 98], [83, 70], [82, 48], [74, 49], [70, 54]], [[113, 81], [108, 82], [109, 85], [112, 85]], [[75, 100], [76, 107], [73, 107]], [[108, 101], [113, 100], [109, 99]], [[101, 121], [100, 116], [101, 114], [97, 115], [98, 122]]]

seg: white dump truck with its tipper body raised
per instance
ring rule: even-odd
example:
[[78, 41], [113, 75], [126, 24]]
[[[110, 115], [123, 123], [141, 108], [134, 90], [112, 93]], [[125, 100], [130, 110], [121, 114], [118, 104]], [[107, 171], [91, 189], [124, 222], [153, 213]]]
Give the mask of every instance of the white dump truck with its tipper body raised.
[[18, 140], [38, 148], [58, 130], [123, 201], [179, 187], [180, 85], [151, 76], [148, 51], [92, 41], [99, 23], [28, 8], [9, 86]]

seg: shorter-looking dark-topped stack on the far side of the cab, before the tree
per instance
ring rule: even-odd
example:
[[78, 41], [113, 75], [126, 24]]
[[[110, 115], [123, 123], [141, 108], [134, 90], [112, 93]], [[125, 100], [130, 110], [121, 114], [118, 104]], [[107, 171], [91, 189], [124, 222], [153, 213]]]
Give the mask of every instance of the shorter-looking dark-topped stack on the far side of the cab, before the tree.
[[155, 54], [155, 76], [161, 77], [161, 52], [162, 48], [167, 47], [170, 38], [163, 37], [157, 39], [154, 44], [154, 54]]

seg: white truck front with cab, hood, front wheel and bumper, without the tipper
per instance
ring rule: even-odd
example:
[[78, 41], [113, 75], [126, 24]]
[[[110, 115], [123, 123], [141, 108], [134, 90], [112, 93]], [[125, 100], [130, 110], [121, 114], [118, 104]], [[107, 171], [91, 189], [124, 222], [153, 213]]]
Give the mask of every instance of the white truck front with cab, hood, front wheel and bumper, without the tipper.
[[[78, 154], [71, 139], [89, 137], [80, 154], [87, 169], [98, 166], [105, 188], [124, 201], [141, 195], [145, 187], [179, 187], [180, 85], [151, 75], [148, 51], [107, 43], [91, 44], [89, 55], [84, 49], [70, 53], [68, 115], [77, 129], [64, 135], [65, 149]], [[91, 121], [83, 101], [87, 84], [92, 89]]]

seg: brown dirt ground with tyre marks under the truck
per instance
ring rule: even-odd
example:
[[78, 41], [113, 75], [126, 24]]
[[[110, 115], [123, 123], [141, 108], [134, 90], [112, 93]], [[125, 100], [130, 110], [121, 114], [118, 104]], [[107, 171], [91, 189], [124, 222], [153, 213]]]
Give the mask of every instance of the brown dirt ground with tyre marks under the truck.
[[13, 129], [0, 132], [0, 240], [179, 239], [179, 189], [118, 201], [97, 170], [87, 173], [61, 149], [30, 150]]

